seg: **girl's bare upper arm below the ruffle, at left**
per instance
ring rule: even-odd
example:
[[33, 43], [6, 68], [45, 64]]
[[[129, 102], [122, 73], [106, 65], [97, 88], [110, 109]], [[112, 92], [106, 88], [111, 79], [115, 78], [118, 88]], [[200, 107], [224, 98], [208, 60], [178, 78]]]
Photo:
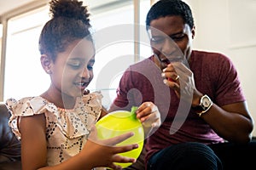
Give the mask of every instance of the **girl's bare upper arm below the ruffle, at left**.
[[46, 165], [47, 145], [44, 114], [20, 117], [22, 169], [38, 169]]

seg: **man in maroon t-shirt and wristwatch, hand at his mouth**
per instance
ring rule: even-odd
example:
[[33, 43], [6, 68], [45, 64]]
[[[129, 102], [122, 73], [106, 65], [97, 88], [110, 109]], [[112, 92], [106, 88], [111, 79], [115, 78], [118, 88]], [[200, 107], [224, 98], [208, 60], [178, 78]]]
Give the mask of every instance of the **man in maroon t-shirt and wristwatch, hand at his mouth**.
[[235, 66], [192, 50], [194, 19], [183, 1], [155, 3], [146, 26], [154, 55], [125, 71], [110, 109], [158, 106], [162, 124], [146, 141], [146, 168], [247, 169], [253, 119]]

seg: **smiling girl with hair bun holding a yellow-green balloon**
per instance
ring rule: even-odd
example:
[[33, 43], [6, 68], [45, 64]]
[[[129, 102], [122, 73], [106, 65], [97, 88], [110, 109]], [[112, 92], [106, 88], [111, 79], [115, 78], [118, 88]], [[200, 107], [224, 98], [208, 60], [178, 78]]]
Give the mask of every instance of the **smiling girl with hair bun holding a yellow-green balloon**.
[[[106, 114], [100, 94], [84, 94], [93, 78], [95, 48], [87, 8], [77, 0], [52, 0], [52, 19], [39, 38], [41, 64], [49, 74], [49, 89], [36, 97], [8, 99], [12, 116], [9, 126], [21, 141], [22, 169], [121, 168], [114, 162], [135, 162], [121, 152], [137, 144], [115, 146], [128, 139], [125, 133], [113, 139], [96, 138], [96, 121]], [[160, 125], [152, 103], [144, 103], [137, 117], [147, 129]], [[147, 130], [146, 129], [146, 130]]]

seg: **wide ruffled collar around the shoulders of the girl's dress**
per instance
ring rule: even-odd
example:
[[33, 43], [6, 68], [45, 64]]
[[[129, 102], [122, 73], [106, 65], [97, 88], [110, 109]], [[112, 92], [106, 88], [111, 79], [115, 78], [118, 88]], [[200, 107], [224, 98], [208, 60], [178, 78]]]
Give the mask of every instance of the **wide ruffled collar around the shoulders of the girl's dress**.
[[17, 139], [21, 139], [20, 116], [44, 114], [46, 118], [46, 136], [62, 133], [67, 139], [75, 139], [89, 134], [90, 127], [99, 119], [102, 111], [102, 94], [86, 94], [77, 100], [73, 110], [65, 110], [38, 97], [20, 100], [8, 99], [6, 105], [11, 113], [9, 127]]

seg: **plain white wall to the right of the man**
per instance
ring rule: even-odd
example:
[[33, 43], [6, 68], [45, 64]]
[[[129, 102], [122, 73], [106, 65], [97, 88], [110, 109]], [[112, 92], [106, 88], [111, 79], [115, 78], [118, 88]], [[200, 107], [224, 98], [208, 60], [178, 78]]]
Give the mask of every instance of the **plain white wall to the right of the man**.
[[195, 18], [194, 48], [226, 54], [236, 65], [256, 136], [256, 1], [187, 0]]

